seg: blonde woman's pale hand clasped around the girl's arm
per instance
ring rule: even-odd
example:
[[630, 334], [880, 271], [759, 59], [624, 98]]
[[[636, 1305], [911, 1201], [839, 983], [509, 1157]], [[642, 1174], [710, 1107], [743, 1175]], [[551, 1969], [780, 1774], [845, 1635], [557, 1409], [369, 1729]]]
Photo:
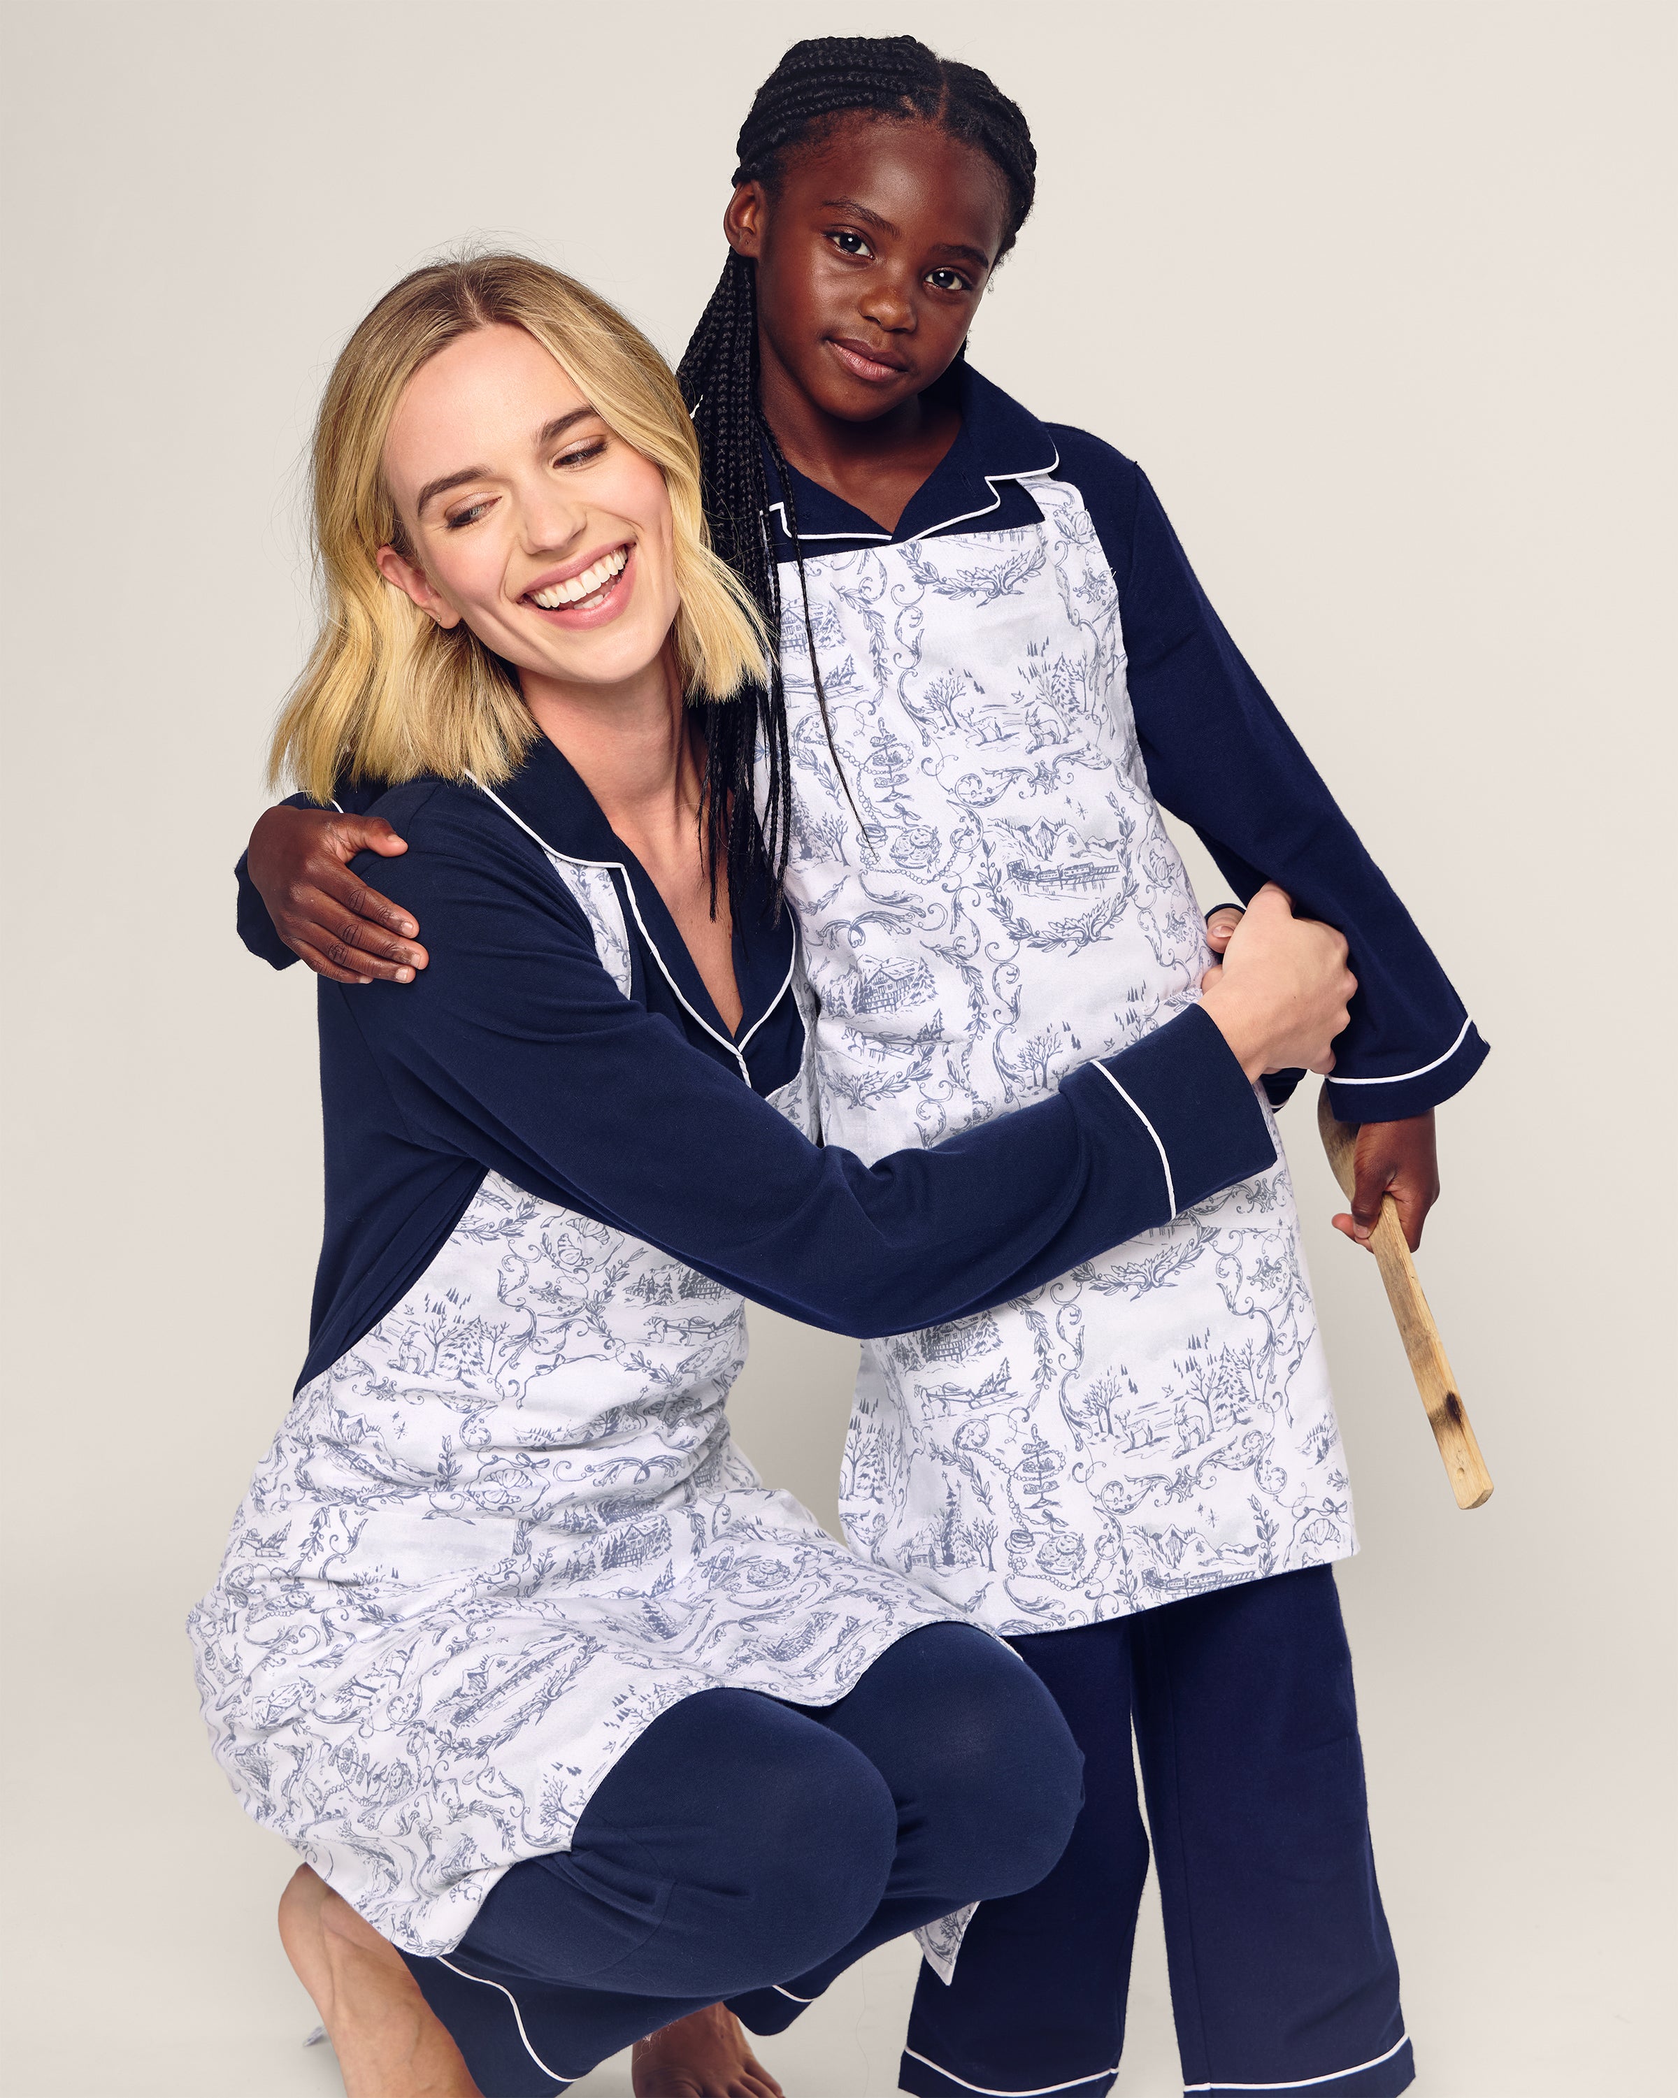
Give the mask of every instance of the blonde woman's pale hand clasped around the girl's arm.
[[1347, 942], [1332, 925], [1296, 919], [1273, 881], [1252, 898], [1223, 961], [1200, 984], [1206, 1015], [1248, 1078], [1298, 1066], [1334, 1070], [1332, 1043], [1357, 990]]

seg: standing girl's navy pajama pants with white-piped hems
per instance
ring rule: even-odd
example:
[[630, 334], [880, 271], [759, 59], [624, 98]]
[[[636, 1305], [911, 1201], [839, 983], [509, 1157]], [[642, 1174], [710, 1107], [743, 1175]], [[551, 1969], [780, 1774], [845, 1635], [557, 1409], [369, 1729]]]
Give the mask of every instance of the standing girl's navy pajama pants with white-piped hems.
[[[1133, 1727], [1185, 2090], [1405, 2090], [1414, 2064], [1330, 1567], [1013, 1645], [1084, 1752], [1087, 1804], [1053, 1871], [973, 1918], [950, 1987], [921, 1968], [902, 2090], [1112, 2088], [1147, 1878]], [[761, 2001], [736, 2008], [757, 2031], [791, 2022]]]

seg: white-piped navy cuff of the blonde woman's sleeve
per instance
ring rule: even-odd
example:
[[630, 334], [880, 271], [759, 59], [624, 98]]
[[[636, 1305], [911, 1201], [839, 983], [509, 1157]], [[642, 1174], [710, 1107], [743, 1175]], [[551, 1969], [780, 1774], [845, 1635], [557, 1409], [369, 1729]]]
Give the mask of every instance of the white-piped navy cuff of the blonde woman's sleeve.
[[1166, 1219], [1275, 1164], [1258, 1093], [1198, 1005], [1097, 1070], [1160, 1154]]

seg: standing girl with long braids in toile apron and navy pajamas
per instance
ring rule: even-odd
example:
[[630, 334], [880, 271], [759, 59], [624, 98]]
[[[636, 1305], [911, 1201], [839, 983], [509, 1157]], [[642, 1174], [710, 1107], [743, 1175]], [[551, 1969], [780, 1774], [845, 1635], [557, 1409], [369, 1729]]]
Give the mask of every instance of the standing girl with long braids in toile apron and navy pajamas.
[[[730, 256], [682, 361], [713, 545], [780, 638], [768, 682], [707, 711], [730, 890], [761, 854], [816, 997], [822, 1133], [881, 1158], [1177, 1024], [1210, 952], [1173, 810], [1242, 896], [1277, 883], [1344, 932], [1359, 992], [1330, 1095], [1361, 1133], [1336, 1223], [1365, 1238], [1391, 1192], [1416, 1244], [1433, 1110], [1485, 1045], [1141, 470], [967, 363], [1034, 168], [1019, 109], [912, 38], [793, 46], [740, 130]], [[340, 978], [424, 969], [417, 917], [344, 877], [369, 845], [401, 850], [268, 812], [252, 873], [279, 944], [248, 887], [252, 944]], [[1296, 1078], [1271, 1074], [1269, 1104]], [[854, 1548], [1009, 1639], [1084, 1752], [1059, 1865], [923, 1936], [919, 2098], [1110, 2088], [1149, 1855], [1133, 1731], [1185, 2083], [1386, 2098], [1414, 2075], [1286, 1164], [1202, 1200], [1168, 1146], [1160, 1171], [1168, 1221], [1133, 1244], [864, 1343]], [[824, 1981], [730, 2001], [778, 2031]]]

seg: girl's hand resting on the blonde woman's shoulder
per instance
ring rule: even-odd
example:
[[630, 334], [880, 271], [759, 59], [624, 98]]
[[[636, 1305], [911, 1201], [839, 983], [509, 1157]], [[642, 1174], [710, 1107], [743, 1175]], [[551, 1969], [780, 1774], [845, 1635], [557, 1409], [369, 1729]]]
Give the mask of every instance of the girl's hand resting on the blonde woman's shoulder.
[[384, 816], [329, 808], [271, 808], [250, 833], [250, 879], [275, 932], [334, 984], [411, 984], [430, 959], [420, 927], [388, 896], [350, 873], [357, 852], [407, 852]]

